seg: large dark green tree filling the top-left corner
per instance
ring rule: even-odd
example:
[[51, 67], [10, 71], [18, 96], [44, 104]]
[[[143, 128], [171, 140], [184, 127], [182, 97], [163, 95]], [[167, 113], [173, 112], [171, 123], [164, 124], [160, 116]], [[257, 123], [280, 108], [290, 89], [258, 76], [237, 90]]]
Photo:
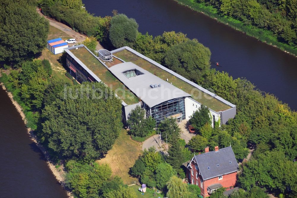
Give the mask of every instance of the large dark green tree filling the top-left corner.
[[0, 8], [0, 62], [12, 65], [33, 59], [45, 48], [48, 20], [24, 0], [3, 0]]

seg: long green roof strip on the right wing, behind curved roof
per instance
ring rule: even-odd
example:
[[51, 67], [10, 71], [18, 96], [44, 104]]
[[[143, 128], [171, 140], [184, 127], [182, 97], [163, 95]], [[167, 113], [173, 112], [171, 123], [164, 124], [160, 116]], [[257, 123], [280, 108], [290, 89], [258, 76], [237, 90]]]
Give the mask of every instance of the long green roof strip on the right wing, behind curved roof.
[[126, 62], [133, 62], [134, 64], [138, 65], [139, 67], [151, 72], [152, 74], [158, 76], [159, 78], [162, 78], [166, 81], [168, 78], [168, 82], [172, 83], [174, 86], [178, 87], [179, 89], [183, 90], [184, 92], [187, 92], [191, 94], [192, 98], [196, 101], [198, 101], [201, 104], [204, 104], [209, 109], [212, 109], [214, 111], [224, 111], [227, 109], [230, 109], [231, 107], [216, 98], [213, 98], [211, 95], [202, 92], [200, 89], [197, 89], [196, 87], [188, 84], [187, 82], [177, 78], [176, 76], [172, 75], [171, 73], [162, 70], [161, 68], [157, 67], [156, 65], [146, 61], [145, 59], [137, 56], [136, 54], [133, 54], [132, 52], [128, 50], [122, 50], [116, 53], [113, 53], [113, 55], [119, 57], [120, 59], [126, 61]]

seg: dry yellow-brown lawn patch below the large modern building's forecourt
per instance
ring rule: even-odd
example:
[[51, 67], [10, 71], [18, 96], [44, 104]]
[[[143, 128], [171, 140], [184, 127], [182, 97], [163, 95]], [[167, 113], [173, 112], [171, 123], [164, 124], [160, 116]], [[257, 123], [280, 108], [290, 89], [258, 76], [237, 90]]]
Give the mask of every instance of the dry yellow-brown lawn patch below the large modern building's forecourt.
[[125, 129], [122, 129], [113, 148], [108, 151], [105, 158], [98, 160], [98, 163], [107, 163], [112, 169], [113, 175], [120, 176], [124, 183], [129, 185], [138, 182], [137, 178], [131, 177], [128, 172], [135, 164], [138, 156], [142, 153], [141, 143], [130, 139]]

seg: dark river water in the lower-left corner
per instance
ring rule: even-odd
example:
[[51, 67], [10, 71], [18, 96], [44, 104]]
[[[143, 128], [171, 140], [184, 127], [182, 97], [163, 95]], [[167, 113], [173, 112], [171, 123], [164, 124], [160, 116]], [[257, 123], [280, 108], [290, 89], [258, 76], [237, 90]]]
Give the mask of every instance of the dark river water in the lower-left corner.
[[67, 197], [0, 87], [0, 197]]

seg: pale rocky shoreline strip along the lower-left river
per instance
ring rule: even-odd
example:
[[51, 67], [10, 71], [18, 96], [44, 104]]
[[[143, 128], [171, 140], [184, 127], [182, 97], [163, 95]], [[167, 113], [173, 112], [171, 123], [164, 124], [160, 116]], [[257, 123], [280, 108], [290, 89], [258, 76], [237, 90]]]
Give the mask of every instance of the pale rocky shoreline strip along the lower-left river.
[[[15, 106], [15, 109], [17, 109], [17, 111], [19, 112], [20, 116], [22, 117], [22, 120], [26, 124], [27, 123], [27, 120], [26, 120], [26, 116], [25, 116], [25, 114], [23, 112], [22, 107], [13, 99], [12, 93], [7, 91], [6, 87], [4, 86], [4, 84], [2, 82], [0, 82], [0, 85], [1, 85], [2, 89], [5, 90], [5, 92], [7, 93], [8, 97], [10, 98], [12, 104]], [[33, 130], [31, 130], [31, 128], [27, 128], [27, 133], [28, 133], [30, 139], [42, 151], [42, 153], [43, 153], [43, 155], [44, 155], [44, 157], [46, 159], [46, 162], [48, 164], [49, 169], [51, 170], [51, 172], [53, 173], [53, 175], [56, 177], [56, 180], [58, 180], [58, 182], [64, 188], [64, 190], [67, 193], [67, 196], [70, 197], [70, 198], [73, 198], [74, 196], [73, 196], [72, 192], [69, 191], [69, 189], [65, 185], [65, 175], [66, 175], [66, 172], [64, 171], [64, 169], [59, 169], [59, 170], [56, 169], [55, 164], [53, 164], [50, 161], [50, 158], [49, 158], [49, 155], [48, 155], [48, 152], [46, 151], [46, 149], [39, 142], [37, 142], [37, 137], [33, 133]]]

